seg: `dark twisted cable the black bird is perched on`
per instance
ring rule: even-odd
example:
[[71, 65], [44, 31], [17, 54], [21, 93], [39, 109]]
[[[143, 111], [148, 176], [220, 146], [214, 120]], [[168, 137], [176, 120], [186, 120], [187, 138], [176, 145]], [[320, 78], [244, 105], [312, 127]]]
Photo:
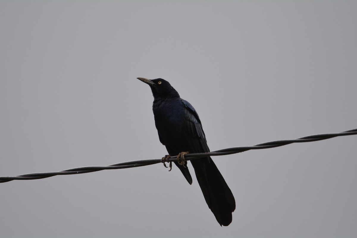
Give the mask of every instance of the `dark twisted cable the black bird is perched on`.
[[[240, 153], [248, 150], [260, 150], [260, 149], [267, 149], [267, 148], [274, 148], [278, 146], [285, 146], [291, 143], [301, 143], [301, 142], [311, 142], [311, 141], [321, 141], [326, 140], [329, 138], [337, 137], [337, 136], [350, 136], [350, 135], [357, 135], [357, 129], [344, 131], [340, 133], [330, 133], [330, 134], [319, 134], [319, 135], [312, 135], [312, 136], [305, 136], [295, 140], [281, 140], [281, 141], [270, 141], [261, 143], [255, 146], [242, 146], [242, 147], [232, 147], [226, 148], [223, 150], [208, 152], [208, 153], [190, 153], [185, 155], [186, 160], [198, 159], [206, 156], [220, 156], [220, 155], [231, 155], [235, 153]], [[171, 156], [169, 159], [170, 162], [177, 161], [176, 156]], [[79, 168], [71, 168], [62, 170], [59, 172], [48, 172], [48, 173], [28, 173], [22, 174], [19, 176], [0, 176], [0, 183], [9, 182], [12, 180], [28, 180], [28, 179], [40, 179], [40, 178], [48, 178], [56, 175], [64, 175], [64, 174], [80, 174], [80, 173], [91, 173], [95, 171], [101, 171], [104, 169], [120, 169], [120, 168], [133, 168], [133, 167], [140, 167], [146, 166], [150, 164], [160, 163], [161, 159], [142, 159], [136, 161], [128, 161], [122, 163], [111, 164], [108, 166], [86, 166], [86, 167], [79, 167]]]

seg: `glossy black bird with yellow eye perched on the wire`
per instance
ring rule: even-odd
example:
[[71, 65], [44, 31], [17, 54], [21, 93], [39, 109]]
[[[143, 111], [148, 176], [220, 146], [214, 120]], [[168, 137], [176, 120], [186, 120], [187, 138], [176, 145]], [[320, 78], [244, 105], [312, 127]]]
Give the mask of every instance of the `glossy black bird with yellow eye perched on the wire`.
[[[188, 183], [192, 184], [187, 161], [179, 158], [184, 158], [188, 152], [210, 152], [195, 108], [180, 98], [178, 92], [166, 80], [137, 79], [147, 83], [154, 96], [152, 111], [160, 142], [166, 146], [170, 156], [179, 154], [178, 162], [175, 164]], [[232, 222], [232, 212], [236, 208], [231, 189], [211, 157], [191, 160], [191, 163], [208, 207], [221, 226], [228, 226]]]

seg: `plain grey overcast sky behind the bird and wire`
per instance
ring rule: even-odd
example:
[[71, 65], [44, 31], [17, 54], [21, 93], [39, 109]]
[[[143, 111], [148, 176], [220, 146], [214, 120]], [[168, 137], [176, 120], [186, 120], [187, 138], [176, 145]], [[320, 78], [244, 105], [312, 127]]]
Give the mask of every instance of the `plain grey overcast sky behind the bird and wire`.
[[[166, 155], [136, 77], [168, 80], [212, 151], [356, 128], [356, 7], [1, 1], [0, 176]], [[228, 227], [162, 164], [2, 183], [0, 236], [356, 237], [356, 142], [214, 157]]]

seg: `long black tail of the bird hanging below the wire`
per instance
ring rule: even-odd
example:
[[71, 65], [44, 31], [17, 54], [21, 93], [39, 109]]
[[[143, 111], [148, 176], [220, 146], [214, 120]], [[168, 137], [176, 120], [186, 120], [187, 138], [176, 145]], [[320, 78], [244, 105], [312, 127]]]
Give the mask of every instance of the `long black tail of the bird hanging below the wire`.
[[236, 209], [231, 189], [211, 157], [191, 160], [191, 163], [208, 207], [221, 226], [228, 226], [232, 222], [232, 212]]

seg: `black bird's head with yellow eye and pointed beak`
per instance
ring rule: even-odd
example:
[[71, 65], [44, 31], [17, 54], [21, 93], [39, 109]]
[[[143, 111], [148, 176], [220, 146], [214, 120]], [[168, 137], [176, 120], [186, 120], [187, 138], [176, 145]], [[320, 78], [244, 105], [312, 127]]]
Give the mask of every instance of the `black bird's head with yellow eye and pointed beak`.
[[173, 88], [171, 84], [164, 79], [150, 80], [141, 77], [137, 79], [147, 83], [150, 86], [154, 98], [180, 97], [175, 88]]

